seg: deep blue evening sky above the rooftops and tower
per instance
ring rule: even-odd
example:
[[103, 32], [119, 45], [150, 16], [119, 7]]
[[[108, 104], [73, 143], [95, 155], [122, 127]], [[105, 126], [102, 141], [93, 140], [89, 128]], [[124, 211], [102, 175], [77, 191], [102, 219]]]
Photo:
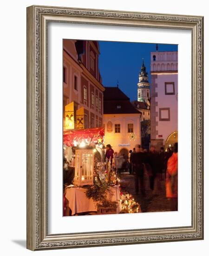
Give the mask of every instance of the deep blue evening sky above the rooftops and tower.
[[[150, 52], [156, 52], [156, 44], [99, 41], [99, 70], [104, 86], [117, 86], [137, 100], [138, 74], [142, 58], [150, 82]], [[177, 45], [158, 44], [158, 51], [177, 51]]]

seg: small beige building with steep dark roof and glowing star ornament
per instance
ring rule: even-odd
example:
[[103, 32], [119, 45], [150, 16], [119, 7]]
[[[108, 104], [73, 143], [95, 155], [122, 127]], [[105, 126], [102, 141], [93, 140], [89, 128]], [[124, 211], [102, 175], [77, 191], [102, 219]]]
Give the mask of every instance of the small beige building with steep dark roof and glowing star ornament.
[[104, 143], [115, 152], [128, 155], [136, 144], [141, 144], [141, 113], [118, 87], [104, 91]]

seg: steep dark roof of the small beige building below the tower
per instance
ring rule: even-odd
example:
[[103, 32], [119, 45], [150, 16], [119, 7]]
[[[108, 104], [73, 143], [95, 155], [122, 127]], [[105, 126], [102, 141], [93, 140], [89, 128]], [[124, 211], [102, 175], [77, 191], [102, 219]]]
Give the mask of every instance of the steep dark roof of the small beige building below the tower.
[[105, 87], [104, 114], [139, 114], [127, 97], [118, 87]]

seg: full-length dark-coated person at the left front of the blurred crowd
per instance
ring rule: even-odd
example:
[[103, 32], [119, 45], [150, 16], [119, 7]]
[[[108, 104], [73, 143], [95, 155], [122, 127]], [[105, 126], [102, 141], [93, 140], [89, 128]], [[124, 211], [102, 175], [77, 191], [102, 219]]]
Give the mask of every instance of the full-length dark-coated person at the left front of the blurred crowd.
[[[144, 153], [141, 151], [141, 146], [137, 144], [135, 146], [136, 152], [131, 153], [131, 163], [133, 167], [133, 173], [135, 173], [135, 191], [136, 194], [140, 191], [142, 195], [145, 195], [144, 191]], [[138, 186], [139, 185], [139, 186]]]

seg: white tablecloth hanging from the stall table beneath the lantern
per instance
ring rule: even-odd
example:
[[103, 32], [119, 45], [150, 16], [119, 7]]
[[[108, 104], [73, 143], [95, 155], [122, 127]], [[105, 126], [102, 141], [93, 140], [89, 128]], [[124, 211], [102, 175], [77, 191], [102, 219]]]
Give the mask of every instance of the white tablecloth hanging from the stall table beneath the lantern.
[[[65, 206], [69, 207], [72, 215], [84, 212], [97, 212], [98, 207], [96, 203], [85, 195], [86, 189], [82, 187], [67, 187], [65, 189]], [[115, 213], [120, 213], [122, 210], [120, 202], [119, 186], [111, 186], [107, 191], [107, 199], [111, 202], [118, 202]]]

